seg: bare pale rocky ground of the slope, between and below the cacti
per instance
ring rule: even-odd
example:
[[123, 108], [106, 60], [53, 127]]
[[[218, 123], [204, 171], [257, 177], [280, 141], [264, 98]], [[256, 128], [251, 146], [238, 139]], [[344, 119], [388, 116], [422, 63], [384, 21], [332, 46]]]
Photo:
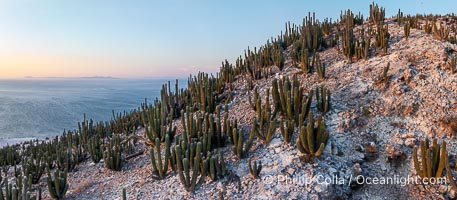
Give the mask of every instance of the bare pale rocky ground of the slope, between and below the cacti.
[[[349, 64], [338, 47], [321, 52], [327, 73], [325, 81], [320, 81], [317, 74], [303, 74], [293, 68], [289, 58], [283, 71], [276, 69], [276, 78], [297, 74], [306, 89], [325, 84], [332, 91], [332, 109], [325, 117], [330, 139], [319, 158], [304, 161], [294, 144], [283, 142], [278, 128], [269, 144], [255, 140], [251, 149], [250, 157], [264, 165], [260, 179], [251, 177], [247, 159], [238, 159], [228, 145], [223, 149], [228, 175], [217, 182], [206, 180], [193, 193], [185, 191], [177, 174], [171, 173], [160, 181], [152, 179], [152, 167], [145, 153], [128, 160], [121, 172], [107, 170], [102, 163], [94, 165], [88, 161], [79, 165], [69, 174], [67, 197], [119, 199], [122, 188], [126, 188], [129, 199], [456, 198], [448, 184], [355, 182], [357, 175], [414, 177], [412, 147], [425, 137], [448, 142], [452, 161], [457, 154], [457, 75], [444, 68], [457, 45], [438, 41], [416, 29], [411, 29], [407, 40], [403, 27], [393, 21], [387, 23], [391, 34], [387, 55]], [[376, 84], [388, 63], [389, 81], [386, 85]], [[271, 87], [272, 78], [255, 82], [260, 95]], [[247, 137], [255, 115], [248, 102], [251, 94], [244, 79], [234, 84], [230, 117], [238, 119]], [[314, 104], [312, 110], [316, 110]], [[179, 129], [180, 120], [174, 123]], [[138, 130], [137, 134], [144, 133]], [[294, 138], [297, 134], [296, 129]], [[143, 145], [137, 148], [146, 150]]]

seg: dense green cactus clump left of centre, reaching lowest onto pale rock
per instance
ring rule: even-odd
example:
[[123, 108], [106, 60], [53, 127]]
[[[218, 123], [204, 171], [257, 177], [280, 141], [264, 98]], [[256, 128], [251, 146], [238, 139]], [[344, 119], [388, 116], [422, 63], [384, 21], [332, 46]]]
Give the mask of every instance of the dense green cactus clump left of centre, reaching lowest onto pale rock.
[[[228, 120], [227, 105], [224, 110], [226, 112], [223, 120], [220, 106], [216, 107], [214, 114], [193, 112], [190, 107], [187, 107], [186, 111], [182, 110], [183, 132], [180, 136], [175, 136], [174, 146], [170, 147], [169, 142], [166, 143], [165, 162], [159, 159], [159, 153], [157, 158], [151, 157], [153, 173], [159, 178], [164, 178], [167, 166], [170, 165], [172, 170], [178, 173], [187, 191], [198, 188], [206, 176], [213, 181], [223, 178], [226, 174], [225, 160], [223, 155], [216, 153], [217, 148], [223, 147], [227, 136], [238, 130], [237, 122]], [[160, 152], [160, 149], [156, 147], [156, 151]], [[151, 155], [154, 155], [154, 150], [151, 150]]]

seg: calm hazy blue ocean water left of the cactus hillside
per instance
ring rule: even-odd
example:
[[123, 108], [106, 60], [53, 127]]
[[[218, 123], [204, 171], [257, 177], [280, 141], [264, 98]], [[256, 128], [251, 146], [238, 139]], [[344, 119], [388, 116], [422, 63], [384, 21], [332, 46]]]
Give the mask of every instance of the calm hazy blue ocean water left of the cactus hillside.
[[[0, 80], [0, 138], [45, 138], [77, 128], [84, 113], [110, 120], [112, 110], [155, 99], [164, 79]], [[180, 86], [184, 85], [180, 80]], [[172, 89], [174, 80], [172, 80]], [[151, 102], [151, 101], [149, 101]]]

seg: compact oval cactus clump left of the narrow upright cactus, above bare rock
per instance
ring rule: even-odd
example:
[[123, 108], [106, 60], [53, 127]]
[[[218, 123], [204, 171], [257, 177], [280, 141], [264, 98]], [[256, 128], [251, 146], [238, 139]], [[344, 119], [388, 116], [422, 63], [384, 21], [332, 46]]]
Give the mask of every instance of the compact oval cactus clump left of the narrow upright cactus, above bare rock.
[[121, 171], [123, 166], [121, 138], [115, 135], [106, 149], [103, 161], [105, 167], [114, 171]]

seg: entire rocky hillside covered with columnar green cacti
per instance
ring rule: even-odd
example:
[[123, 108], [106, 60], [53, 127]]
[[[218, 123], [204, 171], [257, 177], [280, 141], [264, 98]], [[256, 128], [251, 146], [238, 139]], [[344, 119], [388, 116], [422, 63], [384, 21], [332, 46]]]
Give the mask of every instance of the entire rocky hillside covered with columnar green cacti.
[[367, 9], [310, 13], [111, 121], [2, 147], [0, 200], [457, 198], [457, 16]]

